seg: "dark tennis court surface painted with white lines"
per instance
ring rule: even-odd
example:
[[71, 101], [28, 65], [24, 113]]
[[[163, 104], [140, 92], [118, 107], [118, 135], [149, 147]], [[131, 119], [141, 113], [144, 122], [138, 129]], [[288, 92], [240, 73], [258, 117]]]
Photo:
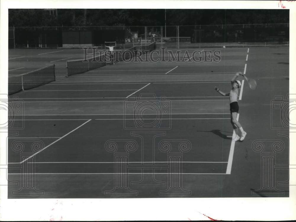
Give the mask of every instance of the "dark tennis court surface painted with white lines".
[[[8, 197], [288, 197], [289, 170], [267, 187], [255, 149], [279, 140], [273, 161], [289, 164], [289, 133], [271, 127], [274, 96], [289, 94], [289, 47], [207, 50], [221, 61], [120, 61], [68, 77], [81, 49], [9, 50], [9, 77], [54, 64], [55, 79], [9, 95], [20, 114], [9, 116]], [[239, 79], [242, 142], [213, 89], [230, 91], [237, 72], [258, 83]]]

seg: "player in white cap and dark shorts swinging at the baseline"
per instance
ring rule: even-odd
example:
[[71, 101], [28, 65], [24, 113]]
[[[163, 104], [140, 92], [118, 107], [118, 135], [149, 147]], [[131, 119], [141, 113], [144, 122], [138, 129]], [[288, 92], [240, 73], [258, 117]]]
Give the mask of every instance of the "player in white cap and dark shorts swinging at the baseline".
[[230, 114], [231, 114], [231, 125], [236, 133], [236, 136], [232, 141], [243, 141], [246, 137], [247, 133], [243, 130], [242, 125], [237, 121], [237, 113], [239, 112], [239, 104], [237, 103], [237, 96], [239, 94], [239, 87], [241, 87], [242, 83], [239, 80], [236, 80], [239, 75], [242, 75], [241, 72], [235, 74], [235, 76], [231, 80], [232, 89], [229, 93], [224, 93], [216, 86], [214, 89], [220, 93], [222, 96], [229, 96], [230, 102]]

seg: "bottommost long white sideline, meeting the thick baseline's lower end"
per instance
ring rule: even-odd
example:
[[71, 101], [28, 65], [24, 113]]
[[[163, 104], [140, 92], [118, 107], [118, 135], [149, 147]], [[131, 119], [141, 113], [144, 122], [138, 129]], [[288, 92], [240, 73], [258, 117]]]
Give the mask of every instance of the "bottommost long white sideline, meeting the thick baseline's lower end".
[[197, 174], [226, 174], [226, 173], [7, 173], [8, 175], [30, 175], [30, 174], [34, 174], [34, 175], [37, 175], [37, 174], [54, 174], [54, 175], [57, 175], [57, 174], [165, 174], [165, 175], [168, 175], [168, 174], [173, 174], [173, 175], [176, 175], [176, 174], [186, 174], [186, 175], [197, 175]]

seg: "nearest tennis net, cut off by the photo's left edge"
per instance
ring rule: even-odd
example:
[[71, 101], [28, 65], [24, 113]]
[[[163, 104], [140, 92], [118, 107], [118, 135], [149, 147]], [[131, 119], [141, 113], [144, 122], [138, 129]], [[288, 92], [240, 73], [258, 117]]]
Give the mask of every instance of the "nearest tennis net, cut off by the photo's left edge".
[[49, 65], [28, 73], [8, 77], [8, 94], [32, 89], [55, 81], [54, 66]]

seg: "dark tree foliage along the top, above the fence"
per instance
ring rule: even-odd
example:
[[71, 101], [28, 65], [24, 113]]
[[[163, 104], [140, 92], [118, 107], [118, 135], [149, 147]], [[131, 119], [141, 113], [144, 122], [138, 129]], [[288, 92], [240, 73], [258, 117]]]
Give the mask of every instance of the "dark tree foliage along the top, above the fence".
[[9, 26], [160, 26], [289, 23], [283, 9], [9, 9]]

